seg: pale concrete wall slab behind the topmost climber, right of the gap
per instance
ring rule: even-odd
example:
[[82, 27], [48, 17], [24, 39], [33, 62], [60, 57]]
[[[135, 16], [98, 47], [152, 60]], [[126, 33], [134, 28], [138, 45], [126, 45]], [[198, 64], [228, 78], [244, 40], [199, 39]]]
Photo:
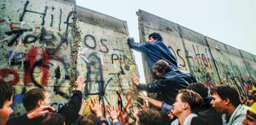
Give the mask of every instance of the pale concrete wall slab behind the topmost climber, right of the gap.
[[[144, 43], [148, 40], [147, 37], [150, 35], [150, 33], [160, 33], [164, 39], [165, 45], [168, 46], [175, 58], [177, 58], [177, 64], [180, 69], [189, 71], [178, 25], [141, 10], [137, 12], [137, 15], [139, 16], [139, 33], [141, 43]], [[145, 55], [143, 55], [143, 60], [147, 60]], [[150, 73], [150, 69], [147, 66], [147, 62], [143, 61], [143, 67], [146, 82], [151, 82], [152, 75]]]

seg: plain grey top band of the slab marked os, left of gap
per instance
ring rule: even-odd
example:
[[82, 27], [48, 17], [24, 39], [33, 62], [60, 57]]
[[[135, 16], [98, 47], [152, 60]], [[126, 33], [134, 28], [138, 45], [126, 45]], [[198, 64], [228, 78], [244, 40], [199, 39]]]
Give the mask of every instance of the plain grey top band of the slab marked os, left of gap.
[[112, 16], [76, 5], [76, 19], [97, 26], [106, 27], [128, 35], [127, 22]]

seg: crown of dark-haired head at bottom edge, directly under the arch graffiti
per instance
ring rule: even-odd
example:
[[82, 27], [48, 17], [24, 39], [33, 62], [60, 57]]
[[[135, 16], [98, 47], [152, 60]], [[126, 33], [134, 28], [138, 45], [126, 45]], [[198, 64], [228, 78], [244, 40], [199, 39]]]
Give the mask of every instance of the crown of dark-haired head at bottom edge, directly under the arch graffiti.
[[100, 120], [96, 117], [94, 114], [90, 114], [87, 116], [83, 116], [79, 122], [78, 125], [100, 125]]

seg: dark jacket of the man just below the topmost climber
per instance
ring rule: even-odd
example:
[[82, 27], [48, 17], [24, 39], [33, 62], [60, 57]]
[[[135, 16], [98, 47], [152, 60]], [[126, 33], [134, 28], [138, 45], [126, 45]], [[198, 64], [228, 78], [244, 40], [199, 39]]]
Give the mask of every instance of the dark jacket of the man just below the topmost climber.
[[177, 92], [186, 88], [189, 84], [197, 82], [195, 77], [186, 71], [168, 71], [157, 77], [150, 84], [139, 84], [139, 88], [147, 92], [157, 92], [156, 98], [173, 105]]

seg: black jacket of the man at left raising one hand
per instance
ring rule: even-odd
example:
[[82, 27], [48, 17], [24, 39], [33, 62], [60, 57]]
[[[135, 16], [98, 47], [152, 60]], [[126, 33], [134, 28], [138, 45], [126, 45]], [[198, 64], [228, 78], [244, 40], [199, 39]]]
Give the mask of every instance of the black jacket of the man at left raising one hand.
[[[74, 120], [79, 116], [79, 110], [81, 108], [82, 103], [82, 92], [80, 90], [76, 90], [71, 97], [70, 101], [66, 103], [57, 113], [60, 113], [66, 118], [66, 125], [71, 125]], [[12, 120], [8, 120], [8, 125], [35, 125], [40, 124], [44, 117], [34, 118], [29, 120], [27, 118], [27, 114], [21, 115], [20, 117], [13, 118]]]

